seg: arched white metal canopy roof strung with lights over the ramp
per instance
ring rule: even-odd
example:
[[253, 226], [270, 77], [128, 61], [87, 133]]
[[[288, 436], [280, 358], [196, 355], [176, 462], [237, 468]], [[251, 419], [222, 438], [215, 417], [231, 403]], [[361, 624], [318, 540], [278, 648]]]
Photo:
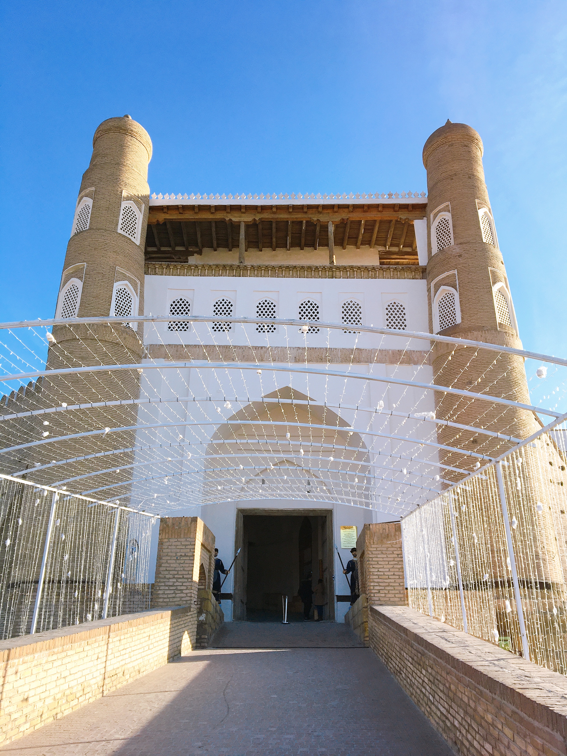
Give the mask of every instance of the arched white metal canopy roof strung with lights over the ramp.
[[[53, 326], [66, 327], [59, 343]], [[139, 342], [140, 361], [113, 359], [101, 335], [109, 327], [123, 354]], [[567, 360], [451, 336], [216, 315], [132, 316], [128, 326], [119, 318], [23, 321], [0, 331], [0, 383], [14, 389], [0, 403], [2, 472], [155, 515], [222, 501], [310, 500], [404, 516], [483, 479], [565, 419]], [[46, 369], [49, 344], [57, 367]], [[493, 376], [507, 355], [543, 363], [528, 375], [534, 403], [434, 383], [438, 344], [446, 361], [466, 348], [468, 366], [492, 355]], [[435, 396], [445, 395], [454, 411], [435, 417]], [[460, 422], [475, 401], [476, 420]], [[487, 407], [549, 422], [519, 438], [483, 427]], [[479, 442], [441, 443], [442, 429]]]

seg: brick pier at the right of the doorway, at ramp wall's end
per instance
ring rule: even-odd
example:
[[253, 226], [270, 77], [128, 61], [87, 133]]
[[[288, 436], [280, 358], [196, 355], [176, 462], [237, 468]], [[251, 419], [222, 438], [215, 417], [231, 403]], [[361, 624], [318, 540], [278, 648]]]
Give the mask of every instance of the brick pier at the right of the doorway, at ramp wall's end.
[[405, 605], [404, 558], [399, 522], [364, 525], [356, 541], [358, 582], [369, 604]]

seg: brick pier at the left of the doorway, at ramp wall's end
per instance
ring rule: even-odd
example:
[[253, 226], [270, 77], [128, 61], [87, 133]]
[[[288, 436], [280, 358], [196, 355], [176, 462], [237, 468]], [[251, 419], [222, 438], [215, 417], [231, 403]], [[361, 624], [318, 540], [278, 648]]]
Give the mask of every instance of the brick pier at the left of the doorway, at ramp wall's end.
[[191, 649], [197, 643], [201, 567], [205, 572], [201, 590], [210, 591], [214, 553], [215, 536], [199, 517], [162, 517], [160, 520], [151, 605], [152, 609], [180, 604], [189, 607], [187, 634]]

